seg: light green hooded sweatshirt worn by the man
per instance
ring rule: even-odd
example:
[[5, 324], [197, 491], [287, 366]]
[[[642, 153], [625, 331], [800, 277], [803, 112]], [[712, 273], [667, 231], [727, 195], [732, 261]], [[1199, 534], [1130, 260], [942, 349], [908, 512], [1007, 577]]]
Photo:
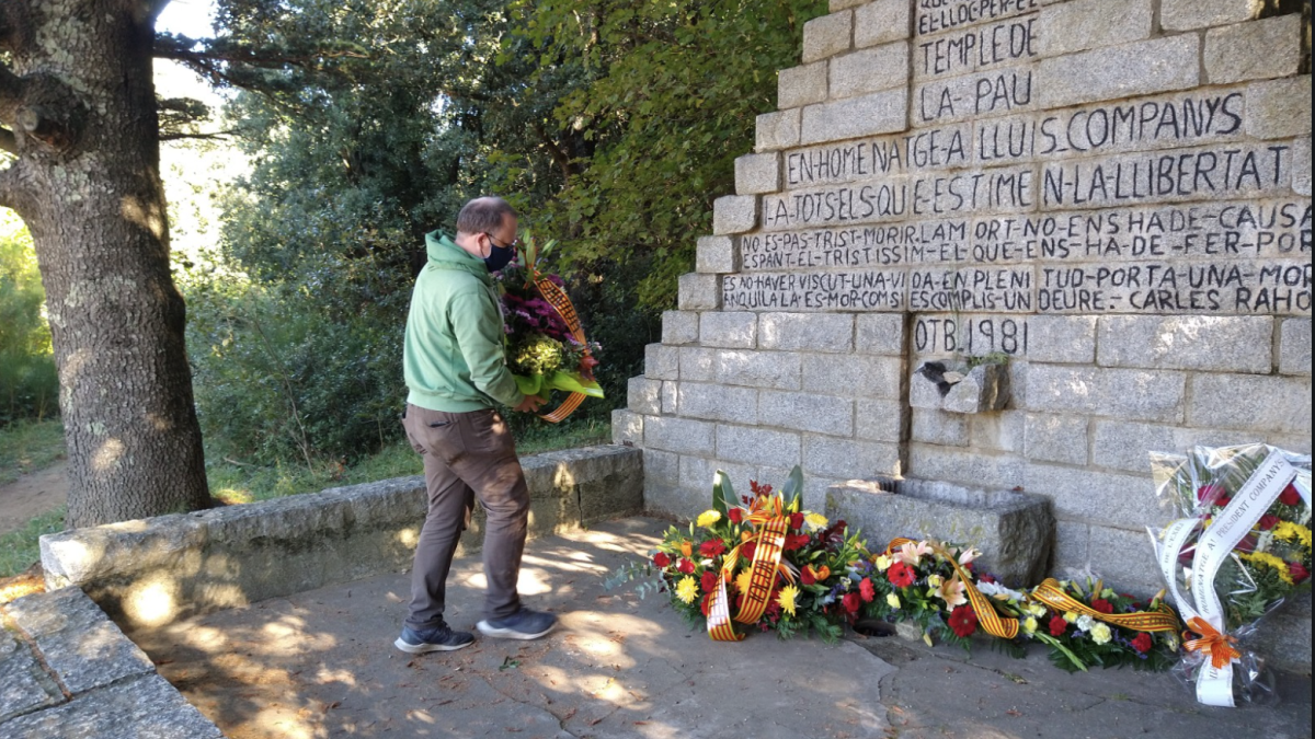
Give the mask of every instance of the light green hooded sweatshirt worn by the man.
[[429, 264], [416, 277], [402, 367], [406, 402], [467, 413], [515, 408], [525, 396], [506, 368], [497, 289], [484, 260], [441, 231], [425, 235]]

